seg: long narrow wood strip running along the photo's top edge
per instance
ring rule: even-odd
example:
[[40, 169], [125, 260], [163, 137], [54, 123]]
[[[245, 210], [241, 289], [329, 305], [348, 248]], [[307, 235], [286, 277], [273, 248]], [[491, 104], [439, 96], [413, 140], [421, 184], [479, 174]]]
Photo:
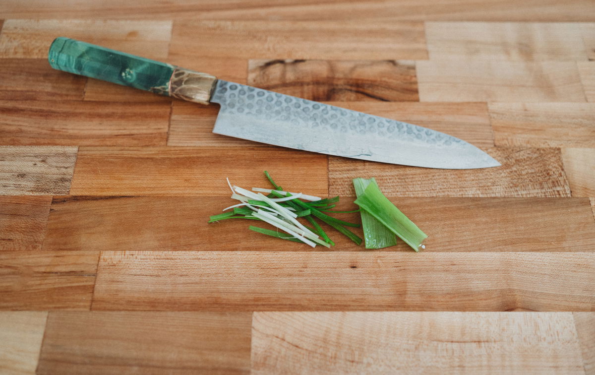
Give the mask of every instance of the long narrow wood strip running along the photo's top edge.
[[117, 0], [104, 0], [83, 7], [76, 0], [60, 4], [43, 0], [23, 3], [4, 1], [6, 18], [98, 18], [98, 19], [237, 19], [237, 20], [353, 20], [364, 18], [393, 20], [459, 21], [593, 21], [595, 5], [591, 0], [429, 0], [424, 4], [407, 0], [223, 0], [219, 2], [143, 1], [121, 6]]

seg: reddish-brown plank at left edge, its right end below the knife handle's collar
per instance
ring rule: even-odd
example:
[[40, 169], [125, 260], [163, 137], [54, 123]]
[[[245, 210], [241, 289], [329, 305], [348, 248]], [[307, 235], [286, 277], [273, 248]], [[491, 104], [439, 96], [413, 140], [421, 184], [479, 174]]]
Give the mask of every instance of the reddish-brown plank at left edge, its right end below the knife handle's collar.
[[168, 102], [0, 101], [5, 145], [159, 146], [167, 142]]

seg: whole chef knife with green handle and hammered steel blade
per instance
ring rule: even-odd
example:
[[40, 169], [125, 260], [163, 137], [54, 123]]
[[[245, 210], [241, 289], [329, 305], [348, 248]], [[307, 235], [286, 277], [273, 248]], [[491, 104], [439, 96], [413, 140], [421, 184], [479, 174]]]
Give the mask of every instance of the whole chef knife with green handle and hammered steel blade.
[[322, 154], [431, 168], [496, 167], [456, 137], [333, 105], [217, 79], [210, 74], [56, 38], [57, 69], [200, 104], [220, 105], [214, 133]]

